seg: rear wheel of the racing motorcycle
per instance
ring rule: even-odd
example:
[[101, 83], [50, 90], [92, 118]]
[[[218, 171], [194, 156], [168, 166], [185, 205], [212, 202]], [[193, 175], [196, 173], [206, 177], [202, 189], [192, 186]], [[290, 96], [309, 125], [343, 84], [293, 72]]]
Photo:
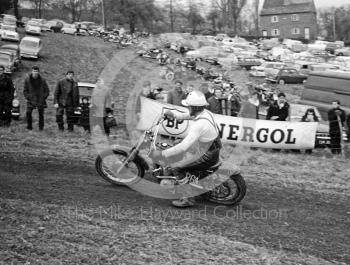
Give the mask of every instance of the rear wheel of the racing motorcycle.
[[205, 194], [208, 201], [224, 204], [236, 205], [246, 194], [246, 184], [240, 174], [232, 175], [230, 178]]

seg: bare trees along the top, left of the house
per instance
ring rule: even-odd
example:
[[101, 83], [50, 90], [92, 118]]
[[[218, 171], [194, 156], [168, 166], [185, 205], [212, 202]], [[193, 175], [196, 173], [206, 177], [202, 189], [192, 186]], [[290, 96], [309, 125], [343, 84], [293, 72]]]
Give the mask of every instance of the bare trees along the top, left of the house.
[[[253, 0], [259, 5], [259, 0]], [[128, 25], [130, 31], [136, 28], [152, 32], [197, 33], [207, 29], [230, 31], [239, 34], [244, 24], [241, 19], [247, 0], [212, 0], [211, 5], [203, 8], [198, 1], [166, 0], [156, 5], [155, 0], [27, 0], [36, 18], [47, 18], [48, 10], [55, 10], [55, 18], [66, 18], [70, 22], [81, 19], [95, 21], [113, 27]], [[0, 0], [0, 12], [9, 9], [20, 18], [20, 0]], [[104, 19], [102, 21], [102, 8]], [[67, 14], [69, 16], [67, 17]], [[255, 15], [258, 18], [258, 15]]]

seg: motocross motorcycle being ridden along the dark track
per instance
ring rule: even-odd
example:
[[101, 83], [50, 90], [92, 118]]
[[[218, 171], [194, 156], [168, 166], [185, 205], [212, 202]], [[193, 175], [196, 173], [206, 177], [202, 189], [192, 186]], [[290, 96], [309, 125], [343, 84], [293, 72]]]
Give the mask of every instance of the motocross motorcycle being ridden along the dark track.
[[[165, 180], [172, 188], [183, 184], [190, 184], [197, 189], [202, 189], [200, 196], [213, 203], [222, 205], [236, 205], [245, 196], [246, 184], [239, 169], [220, 169], [222, 162], [218, 162], [207, 170], [183, 172], [181, 176], [164, 175], [166, 167], [157, 163], [149, 165], [140, 151], [146, 148], [147, 156], [151, 156], [153, 150], [165, 150], [172, 145], [165, 142], [157, 142], [161, 123], [166, 118], [157, 119], [155, 125], [145, 131], [137, 143], [131, 147], [114, 146], [109, 150], [101, 152], [95, 161], [98, 174], [106, 181], [114, 185], [131, 186], [139, 182], [146, 171], [151, 173], [152, 178], [162, 184]], [[109, 162], [108, 162], [109, 161]], [[113, 168], [113, 170], [112, 170]], [[120, 176], [123, 170], [132, 172], [131, 176], [125, 178]], [[210, 180], [202, 183], [201, 180]]]

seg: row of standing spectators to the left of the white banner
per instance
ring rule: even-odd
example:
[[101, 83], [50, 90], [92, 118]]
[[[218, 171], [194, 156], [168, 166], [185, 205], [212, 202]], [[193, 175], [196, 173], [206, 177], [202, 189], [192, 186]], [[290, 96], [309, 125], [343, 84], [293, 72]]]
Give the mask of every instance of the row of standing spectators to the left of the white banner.
[[[16, 93], [13, 81], [10, 76], [4, 74], [4, 67], [0, 66], [0, 126], [9, 127], [11, 125], [12, 101]], [[74, 72], [69, 70], [63, 79], [58, 80], [54, 93], [53, 103], [56, 109], [56, 123], [58, 130], [63, 132], [66, 129], [74, 132], [74, 126], [78, 125], [90, 132], [90, 112], [91, 117], [99, 122], [102, 119], [104, 130], [107, 135], [110, 133], [110, 127], [115, 126], [116, 122], [107, 122], [115, 120], [111, 117], [111, 95], [108, 89], [101, 89], [102, 83], [98, 82], [95, 96], [91, 98], [80, 98], [78, 83], [74, 79]], [[101, 95], [99, 95], [99, 93]], [[33, 66], [31, 72], [24, 80], [23, 96], [26, 100], [26, 129], [33, 130], [33, 111], [38, 112], [39, 131], [45, 127], [45, 109], [48, 107], [47, 99], [50, 95], [50, 89], [47, 81], [40, 73], [38, 66]], [[91, 101], [91, 102], [89, 102]], [[102, 111], [99, 111], [99, 109]], [[101, 123], [100, 123], [101, 124]]]

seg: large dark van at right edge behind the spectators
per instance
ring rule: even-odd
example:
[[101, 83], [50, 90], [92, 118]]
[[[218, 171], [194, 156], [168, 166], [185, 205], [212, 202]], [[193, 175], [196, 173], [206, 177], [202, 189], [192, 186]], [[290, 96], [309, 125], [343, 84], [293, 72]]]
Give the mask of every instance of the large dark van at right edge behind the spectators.
[[317, 107], [322, 118], [328, 120], [333, 100], [339, 100], [342, 109], [350, 113], [350, 73], [310, 72], [300, 103]]

